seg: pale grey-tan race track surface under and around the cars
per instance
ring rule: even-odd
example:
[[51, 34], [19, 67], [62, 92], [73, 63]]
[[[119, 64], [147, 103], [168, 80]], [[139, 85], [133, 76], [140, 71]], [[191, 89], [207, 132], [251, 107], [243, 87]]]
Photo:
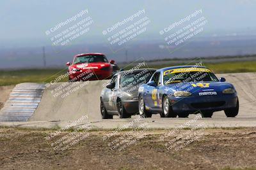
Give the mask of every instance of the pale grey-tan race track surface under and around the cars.
[[[253, 127], [256, 125], [256, 73], [230, 73], [217, 74], [218, 77], [225, 77], [226, 80], [236, 87], [239, 96], [239, 115], [236, 118], [227, 118], [223, 111], [215, 112], [212, 118], [201, 118], [195, 124], [204, 122], [207, 127]], [[88, 116], [88, 121], [92, 122], [93, 127], [102, 129], [112, 129], [131, 124], [136, 127], [141, 122], [148, 122], [152, 128], [172, 128], [185, 124], [195, 118], [196, 115], [189, 115], [189, 118], [160, 118], [159, 115], [153, 115], [152, 118], [143, 118], [138, 122], [138, 116], [132, 118], [120, 119], [114, 117], [113, 120], [102, 120], [100, 116], [100, 92], [107, 83], [103, 81], [90, 81], [87, 83], [77, 83], [75, 89], [69, 95], [59, 92], [63, 83], [54, 83], [44, 90], [41, 102], [35, 113], [28, 122], [2, 122], [0, 125], [19, 125], [21, 127], [63, 127], [78, 120], [82, 116]], [[65, 86], [68, 88], [69, 85]], [[65, 89], [60, 88], [60, 89]], [[62, 97], [61, 97], [62, 96]], [[83, 123], [78, 123], [83, 124]]]

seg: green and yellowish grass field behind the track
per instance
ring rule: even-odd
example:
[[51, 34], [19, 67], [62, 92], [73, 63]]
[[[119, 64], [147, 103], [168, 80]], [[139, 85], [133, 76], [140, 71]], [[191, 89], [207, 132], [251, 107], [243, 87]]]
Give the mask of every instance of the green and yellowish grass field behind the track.
[[[177, 65], [177, 64], [175, 64]], [[184, 65], [180, 63], [179, 65]], [[243, 62], [221, 62], [221, 63], [207, 63], [204, 65], [212, 69], [214, 73], [241, 73], [241, 72], [256, 72], [256, 61], [243, 61]], [[172, 66], [168, 65], [152, 65], [150, 67], [161, 68]], [[129, 69], [129, 67], [125, 67]], [[15, 85], [23, 82], [35, 82], [35, 83], [48, 83], [54, 80], [61, 74], [67, 73], [67, 68], [64, 69], [22, 69], [15, 71], [0, 71], [0, 86], [3, 85]], [[67, 81], [65, 77], [61, 81]]]

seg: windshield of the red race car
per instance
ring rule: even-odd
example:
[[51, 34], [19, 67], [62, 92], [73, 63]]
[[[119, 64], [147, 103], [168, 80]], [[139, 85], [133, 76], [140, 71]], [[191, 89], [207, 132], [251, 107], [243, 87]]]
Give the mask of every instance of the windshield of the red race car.
[[74, 64], [84, 63], [84, 62], [108, 62], [104, 55], [85, 55], [76, 57], [74, 59]]

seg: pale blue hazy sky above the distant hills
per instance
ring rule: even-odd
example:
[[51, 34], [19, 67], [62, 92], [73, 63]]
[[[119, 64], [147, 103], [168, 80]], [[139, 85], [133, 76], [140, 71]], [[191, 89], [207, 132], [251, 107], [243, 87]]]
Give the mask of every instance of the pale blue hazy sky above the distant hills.
[[0, 1], [0, 47], [49, 45], [45, 31], [81, 10], [88, 9], [93, 25], [86, 40], [97, 43], [104, 37], [102, 31], [110, 25], [129, 17], [138, 10], [145, 9], [150, 18], [147, 36], [159, 37], [159, 31], [202, 9], [208, 20], [207, 34], [225, 32], [256, 32], [255, 0], [179, 0], [179, 1], [67, 1], [67, 0], [1, 0]]

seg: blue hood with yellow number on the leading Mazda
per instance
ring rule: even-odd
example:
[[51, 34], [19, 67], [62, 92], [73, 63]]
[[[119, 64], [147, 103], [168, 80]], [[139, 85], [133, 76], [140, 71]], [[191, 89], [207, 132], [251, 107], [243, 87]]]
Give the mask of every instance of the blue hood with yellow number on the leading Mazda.
[[221, 81], [204, 81], [202, 82], [188, 82], [188, 83], [172, 83], [165, 85], [164, 90], [168, 94], [171, 94], [175, 91], [187, 91], [191, 93], [202, 92], [202, 91], [215, 91], [222, 92], [224, 89], [234, 88], [230, 83], [225, 83]]

